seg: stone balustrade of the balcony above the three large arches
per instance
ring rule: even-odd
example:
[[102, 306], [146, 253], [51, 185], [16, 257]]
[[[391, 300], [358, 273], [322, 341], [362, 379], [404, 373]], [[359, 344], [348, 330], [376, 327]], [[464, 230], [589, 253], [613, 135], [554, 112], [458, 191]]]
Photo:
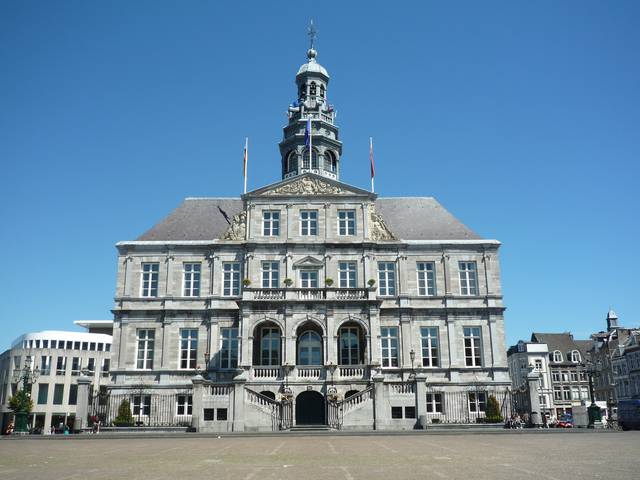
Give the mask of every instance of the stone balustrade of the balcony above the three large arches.
[[375, 289], [368, 288], [248, 288], [244, 301], [358, 301], [376, 300]]

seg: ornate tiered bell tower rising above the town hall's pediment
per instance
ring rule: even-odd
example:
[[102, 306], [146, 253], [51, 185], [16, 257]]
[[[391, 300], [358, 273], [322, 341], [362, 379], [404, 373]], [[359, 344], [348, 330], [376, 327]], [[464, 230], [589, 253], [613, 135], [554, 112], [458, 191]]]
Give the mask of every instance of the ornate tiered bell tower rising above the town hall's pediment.
[[335, 110], [328, 101], [329, 73], [316, 60], [315, 37], [312, 22], [307, 63], [296, 74], [297, 100], [289, 106], [289, 122], [279, 144], [282, 179], [306, 172], [340, 178], [342, 142], [338, 140]]

